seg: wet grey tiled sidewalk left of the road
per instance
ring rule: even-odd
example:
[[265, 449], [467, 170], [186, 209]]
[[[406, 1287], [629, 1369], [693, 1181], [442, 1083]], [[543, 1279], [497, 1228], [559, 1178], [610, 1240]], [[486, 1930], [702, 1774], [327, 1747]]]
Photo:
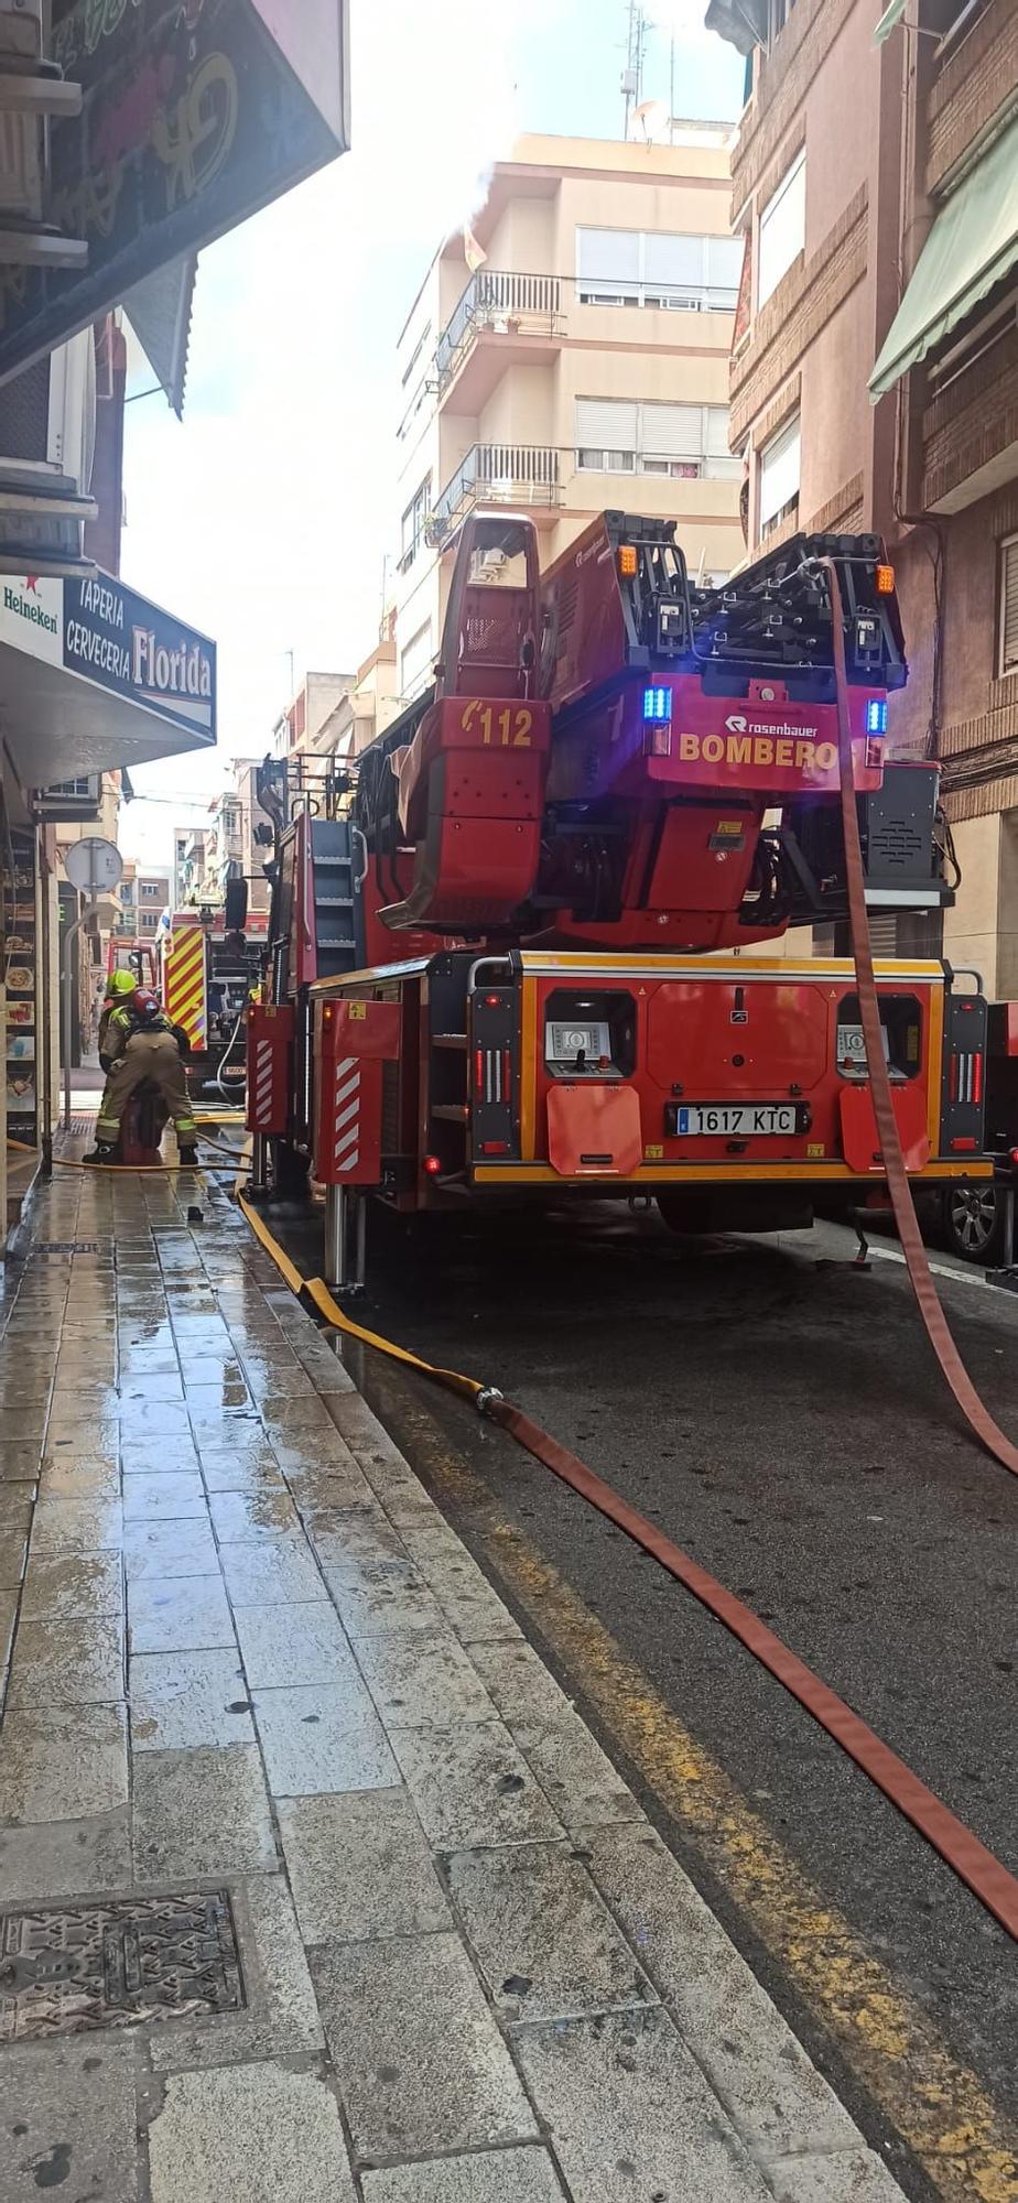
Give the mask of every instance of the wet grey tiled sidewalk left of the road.
[[174, 1185], [57, 1172], [2, 1300], [4, 2203], [899, 2199], [333, 1346]]

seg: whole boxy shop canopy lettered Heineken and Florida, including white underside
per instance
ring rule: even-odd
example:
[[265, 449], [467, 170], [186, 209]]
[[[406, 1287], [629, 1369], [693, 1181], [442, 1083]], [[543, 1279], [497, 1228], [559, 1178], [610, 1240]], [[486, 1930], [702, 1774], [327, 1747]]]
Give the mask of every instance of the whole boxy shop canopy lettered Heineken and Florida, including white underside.
[[216, 745], [216, 645], [137, 590], [0, 575], [0, 727], [22, 789]]

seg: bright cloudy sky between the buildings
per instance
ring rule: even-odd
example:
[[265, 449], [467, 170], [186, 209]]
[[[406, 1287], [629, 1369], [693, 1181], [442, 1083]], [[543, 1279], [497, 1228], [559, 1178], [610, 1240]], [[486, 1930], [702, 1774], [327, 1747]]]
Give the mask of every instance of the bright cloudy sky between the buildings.
[[[736, 119], [705, 0], [648, 0], [643, 97]], [[394, 348], [427, 262], [520, 130], [621, 137], [628, 0], [350, 0], [353, 150], [198, 262], [183, 423], [137, 346], [123, 579], [218, 643], [218, 751], [137, 771], [128, 855], [170, 864], [311, 668], [375, 648], [397, 546]], [[130, 339], [132, 344], [132, 339]], [[293, 656], [291, 656], [293, 654]], [[293, 681], [291, 681], [293, 668]]]

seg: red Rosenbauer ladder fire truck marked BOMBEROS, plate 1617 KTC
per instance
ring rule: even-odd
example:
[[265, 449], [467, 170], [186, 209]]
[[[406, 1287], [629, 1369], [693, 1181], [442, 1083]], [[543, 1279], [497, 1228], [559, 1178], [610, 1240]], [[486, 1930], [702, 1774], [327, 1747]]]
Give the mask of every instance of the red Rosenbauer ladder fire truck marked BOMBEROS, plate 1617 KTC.
[[[280, 817], [249, 1126], [262, 1185], [326, 1187], [331, 1282], [366, 1190], [648, 1194], [676, 1229], [879, 1196], [853, 965], [760, 954], [846, 916], [826, 560], [866, 897], [936, 912], [936, 769], [884, 756], [906, 656], [877, 538], [694, 588], [674, 522], [604, 513], [540, 577], [531, 522], [467, 520], [434, 690]], [[992, 1183], [978, 980], [899, 958], [879, 1002], [912, 1176]]]

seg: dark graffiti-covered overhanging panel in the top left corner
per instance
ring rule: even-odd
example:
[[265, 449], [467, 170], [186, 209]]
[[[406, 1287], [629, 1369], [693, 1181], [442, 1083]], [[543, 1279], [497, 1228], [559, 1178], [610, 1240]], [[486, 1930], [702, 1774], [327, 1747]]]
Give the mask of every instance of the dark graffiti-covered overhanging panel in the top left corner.
[[0, 267], [0, 381], [348, 145], [348, 0], [73, 0], [46, 220], [79, 269]]

